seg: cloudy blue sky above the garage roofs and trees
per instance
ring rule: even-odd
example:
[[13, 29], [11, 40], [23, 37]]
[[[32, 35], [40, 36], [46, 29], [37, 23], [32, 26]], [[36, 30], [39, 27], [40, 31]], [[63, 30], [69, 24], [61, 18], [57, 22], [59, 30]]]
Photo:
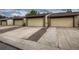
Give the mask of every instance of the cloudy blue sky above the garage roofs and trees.
[[[32, 9], [0, 9], [0, 15], [4, 16], [24, 16], [25, 14], [29, 13]], [[46, 12], [65, 12], [65, 9], [35, 9], [36, 11], [40, 13], [46, 13]], [[79, 9], [72, 9], [72, 11], [76, 12], [79, 11]]]

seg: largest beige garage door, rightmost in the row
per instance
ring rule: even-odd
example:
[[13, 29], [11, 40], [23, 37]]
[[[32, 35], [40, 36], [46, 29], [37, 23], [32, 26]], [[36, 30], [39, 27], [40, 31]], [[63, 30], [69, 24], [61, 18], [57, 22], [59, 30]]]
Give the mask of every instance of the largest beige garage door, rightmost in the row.
[[73, 18], [52, 18], [51, 26], [73, 27]]

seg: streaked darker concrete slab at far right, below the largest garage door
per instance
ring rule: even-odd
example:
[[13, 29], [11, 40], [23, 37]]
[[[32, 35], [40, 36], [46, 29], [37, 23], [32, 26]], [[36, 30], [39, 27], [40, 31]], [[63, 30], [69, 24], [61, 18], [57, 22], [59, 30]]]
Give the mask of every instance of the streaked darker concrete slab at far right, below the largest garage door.
[[79, 30], [75, 28], [57, 28], [61, 49], [79, 49]]

